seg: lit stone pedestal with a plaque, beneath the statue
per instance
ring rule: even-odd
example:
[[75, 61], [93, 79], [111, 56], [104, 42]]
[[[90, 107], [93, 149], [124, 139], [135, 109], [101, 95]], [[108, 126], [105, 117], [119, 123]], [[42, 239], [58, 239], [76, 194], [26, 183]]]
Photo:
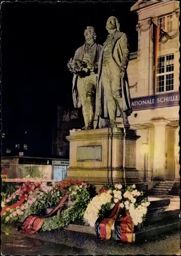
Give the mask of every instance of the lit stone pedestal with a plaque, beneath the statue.
[[135, 168], [136, 131], [104, 128], [75, 131], [70, 141], [70, 167], [67, 178], [95, 185], [139, 182]]

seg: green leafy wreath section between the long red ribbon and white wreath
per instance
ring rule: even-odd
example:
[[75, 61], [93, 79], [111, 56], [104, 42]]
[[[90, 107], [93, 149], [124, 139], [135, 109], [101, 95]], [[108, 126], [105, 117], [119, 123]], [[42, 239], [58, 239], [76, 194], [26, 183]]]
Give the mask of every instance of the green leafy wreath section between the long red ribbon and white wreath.
[[84, 182], [78, 182], [77, 185], [70, 182], [66, 187], [66, 193], [69, 194], [68, 198], [74, 202], [74, 205], [63, 210], [59, 216], [46, 219], [42, 225], [42, 231], [59, 229], [81, 220], [88, 202], [96, 195], [96, 188]]

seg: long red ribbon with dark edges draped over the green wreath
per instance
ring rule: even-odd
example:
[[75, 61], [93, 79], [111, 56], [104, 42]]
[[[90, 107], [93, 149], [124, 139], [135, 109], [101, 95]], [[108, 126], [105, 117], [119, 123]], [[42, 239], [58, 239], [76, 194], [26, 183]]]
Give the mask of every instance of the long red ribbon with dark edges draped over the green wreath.
[[23, 233], [26, 233], [26, 234], [36, 233], [43, 225], [44, 220], [48, 217], [51, 217], [52, 214], [54, 214], [54, 212], [62, 206], [62, 204], [66, 201], [68, 196], [69, 195], [63, 196], [62, 199], [60, 200], [60, 202], [58, 203], [58, 205], [54, 209], [52, 209], [49, 214], [44, 215], [44, 216], [42, 216], [42, 215], [28, 216], [25, 219], [24, 223], [22, 223], [22, 225], [18, 228], [18, 230], [21, 230]]

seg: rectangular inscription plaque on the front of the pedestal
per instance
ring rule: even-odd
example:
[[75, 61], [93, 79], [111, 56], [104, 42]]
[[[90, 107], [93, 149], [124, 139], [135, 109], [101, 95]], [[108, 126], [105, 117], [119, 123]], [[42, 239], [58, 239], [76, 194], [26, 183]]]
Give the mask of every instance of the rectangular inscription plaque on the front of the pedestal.
[[102, 145], [77, 147], [77, 162], [87, 161], [102, 161]]

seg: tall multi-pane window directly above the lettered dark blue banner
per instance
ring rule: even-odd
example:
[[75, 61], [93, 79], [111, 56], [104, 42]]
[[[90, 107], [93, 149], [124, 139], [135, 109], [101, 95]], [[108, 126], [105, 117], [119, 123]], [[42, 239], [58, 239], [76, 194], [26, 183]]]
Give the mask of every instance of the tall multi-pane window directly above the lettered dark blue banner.
[[160, 56], [156, 73], [156, 93], [173, 91], [174, 54]]

